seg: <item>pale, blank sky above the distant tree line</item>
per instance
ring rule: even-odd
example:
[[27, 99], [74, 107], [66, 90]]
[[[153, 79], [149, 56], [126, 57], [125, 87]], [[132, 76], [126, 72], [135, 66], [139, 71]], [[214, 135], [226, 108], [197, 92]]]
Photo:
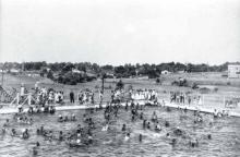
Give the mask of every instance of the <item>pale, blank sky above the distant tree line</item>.
[[240, 0], [0, 0], [5, 61], [240, 61]]

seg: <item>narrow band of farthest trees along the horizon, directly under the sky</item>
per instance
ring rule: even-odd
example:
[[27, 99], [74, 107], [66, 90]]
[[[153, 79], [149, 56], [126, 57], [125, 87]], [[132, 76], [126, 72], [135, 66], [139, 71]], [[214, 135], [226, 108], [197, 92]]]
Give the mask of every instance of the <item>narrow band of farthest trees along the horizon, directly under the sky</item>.
[[[240, 63], [240, 62], [236, 62]], [[4, 69], [22, 69], [24, 68], [24, 71], [39, 71], [44, 68], [49, 68], [51, 71], [70, 71], [72, 69], [77, 69], [80, 71], [86, 72], [91, 71], [94, 73], [100, 73], [100, 72], [108, 72], [113, 73], [116, 75], [123, 74], [125, 76], [129, 75], [136, 75], [136, 74], [143, 74], [148, 75], [152, 73], [160, 73], [164, 70], [167, 70], [169, 72], [178, 72], [178, 71], [185, 71], [185, 72], [223, 72], [227, 70], [227, 67], [229, 62], [219, 64], [219, 65], [208, 65], [205, 63], [202, 64], [193, 64], [193, 63], [180, 63], [180, 62], [168, 62], [168, 63], [159, 63], [159, 64], [124, 64], [124, 65], [99, 65], [97, 63], [91, 63], [91, 62], [79, 62], [79, 63], [72, 63], [72, 62], [56, 62], [56, 63], [47, 63], [45, 61], [43, 62], [24, 62], [24, 63], [17, 63], [17, 62], [5, 62], [0, 63], [0, 67], [3, 67]], [[23, 65], [24, 64], [24, 65]]]

